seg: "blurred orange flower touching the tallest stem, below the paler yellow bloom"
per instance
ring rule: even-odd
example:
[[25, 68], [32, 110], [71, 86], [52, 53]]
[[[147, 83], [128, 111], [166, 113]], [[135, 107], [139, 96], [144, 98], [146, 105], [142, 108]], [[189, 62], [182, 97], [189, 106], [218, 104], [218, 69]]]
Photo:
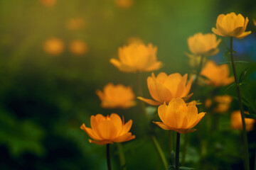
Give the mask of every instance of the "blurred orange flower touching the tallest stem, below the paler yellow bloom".
[[234, 77], [229, 77], [229, 68], [227, 64], [218, 66], [213, 61], [206, 62], [206, 66], [203, 67], [201, 75], [207, 77], [206, 84], [213, 86], [226, 86], [234, 81]]

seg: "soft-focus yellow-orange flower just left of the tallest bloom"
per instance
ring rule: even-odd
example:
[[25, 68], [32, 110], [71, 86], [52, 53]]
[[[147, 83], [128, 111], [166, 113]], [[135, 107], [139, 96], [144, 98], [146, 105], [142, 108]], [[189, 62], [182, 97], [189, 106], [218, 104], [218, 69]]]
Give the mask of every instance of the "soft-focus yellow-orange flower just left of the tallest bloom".
[[218, 53], [220, 41], [213, 33], [197, 33], [188, 38], [188, 48], [194, 55], [211, 56]]

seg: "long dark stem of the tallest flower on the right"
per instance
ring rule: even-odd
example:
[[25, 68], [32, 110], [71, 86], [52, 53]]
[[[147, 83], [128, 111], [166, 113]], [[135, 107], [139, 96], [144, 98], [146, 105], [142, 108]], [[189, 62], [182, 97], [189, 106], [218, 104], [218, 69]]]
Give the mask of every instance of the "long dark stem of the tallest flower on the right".
[[250, 162], [249, 162], [249, 148], [248, 148], [248, 142], [247, 142], [247, 132], [245, 129], [245, 114], [244, 110], [242, 108], [242, 99], [240, 95], [240, 89], [239, 89], [239, 81], [238, 77], [235, 71], [235, 62], [234, 62], [234, 57], [233, 57], [233, 37], [230, 37], [230, 58], [231, 58], [231, 64], [232, 64], [232, 69], [233, 69], [233, 74], [235, 77], [235, 88], [238, 94], [238, 105], [242, 117], [242, 138], [244, 142], [244, 150], [245, 150], [245, 170], [250, 170]]

